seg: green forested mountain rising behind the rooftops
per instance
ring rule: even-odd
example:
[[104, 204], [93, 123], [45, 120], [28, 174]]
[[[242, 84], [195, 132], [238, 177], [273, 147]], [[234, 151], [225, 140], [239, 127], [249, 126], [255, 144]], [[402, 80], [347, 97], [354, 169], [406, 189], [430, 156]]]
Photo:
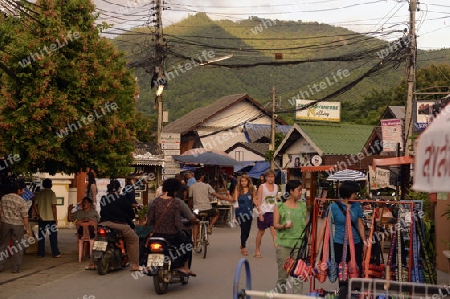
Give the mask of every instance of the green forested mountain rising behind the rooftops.
[[[138, 109], [148, 115], [155, 114], [155, 90], [150, 90], [153, 73], [144, 69], [154, 69], [152, 32], [139, 28], [115, 38], [130, 64], [137, 66]], [[169, 110], [170, 120], [230, 94], [248, 93], [260, 103], [270, 103], [271, 88], [275, 86], [277, 110], [286, 111], [278, 116], [292, 122], [294, 113], [287, 110], [295, 108], [293, 99], [324, 98], [376, 66], [380, 70], [330, 99], [344, 103], [343, 121], [354, 121], [355, 111], [350, 110], [359, 109], [364, 97], [374, 91], [383, 93], [405, 77], [406, 50], [399, 49], [400, 43], [388, 44], [376, 38], [379, 33], [359, 34], [326, 24], [257, 17], [238, 22], [213, 21], [199, 13], [165, 27], [164, 36], [168, 45], [165, 70], [170, 79], [164, 91], [164, 109]], [[383, 56], [397, 50], [395, 57], [380, 63]], [[276, 53], [282, 59], [275, 59]], [[233, 56], [217, 62], [220, 67], [195, 65], [190, 59], [204, 62], [206, 58], [227, 55]], [[418, 66], [446, 62], [449, 58], [450, 50], [419, 51]], [[249, 66], [254, 63], [267, 65]], [[389, 101], [380, 105], [386, 102]], [[373, 103], [375, 108], [377, 103]]]

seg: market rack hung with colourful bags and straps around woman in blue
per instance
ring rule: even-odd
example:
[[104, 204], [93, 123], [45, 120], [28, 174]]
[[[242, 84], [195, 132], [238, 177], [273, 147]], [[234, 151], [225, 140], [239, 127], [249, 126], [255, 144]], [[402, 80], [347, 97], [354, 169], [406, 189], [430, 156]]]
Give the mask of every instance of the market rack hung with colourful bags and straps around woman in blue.
[[[312, 211], [312, 226], [310, 235], [315, 236], [310, 239], [309, 247], [309, 269], [308, 275], [304, 280], [310, 280], [311, 290], [315, 289], [316, 279], [323, 270], [320, 265], [327, 259], [330, 260], [330, 246], [325, 246], [326, 234], [318, 234], [318, 231], [324, 229], [327, 223], [327, 217], [319, 217], [320, 206], [324, 202], [333, 202], [334, 200], [316, 198]], [[436, 283], [436, 271], [433, 261], [428, 255], [429, 248], [427, 244], [428, 236], [425, 234], [423, 223], [422, 204], [414, 201], [376, 201], [376, 200], [358, 200], [364, 208], [366, 236], [368, 242], [369, 256], [363, 261], [363, 268], [360, 269], [362, 277], [381, 278], [400, 282], [426, 282]], [[386, 210], [390, 210], [390, 216], [386, 216]], [[326, 215], [326, 213], [324, 213]], [[321, 225], [319, 225], [319, 222]], [[326, 226], [325, 226], [326, 227]], [[375, 230], [375, 227], [377, 228]], [[331, 229], [332, 230], [332, 229]], [[318, 236], [324, 236], [318, 239]], [[386, 245], [379, 247], [381, 252], [376, 259], [370, 251], [374, 244], [383, 241]], [[322, 243], [322, 244], [321, 244]], [[325, 248], [327, 248], [325, 250]], [[387, 266], [390, 271], [386, 273]], [[325, 278], [330, 271], [325, 270]]]

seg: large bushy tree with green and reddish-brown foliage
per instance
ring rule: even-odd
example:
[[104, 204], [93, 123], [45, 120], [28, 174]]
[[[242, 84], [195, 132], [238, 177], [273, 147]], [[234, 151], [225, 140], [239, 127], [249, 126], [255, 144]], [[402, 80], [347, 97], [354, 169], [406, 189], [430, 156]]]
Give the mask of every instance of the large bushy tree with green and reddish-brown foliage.
[[123, 55], [100, 37], [90, 0], [28, 9], [0, 48], [8, 67], [0, 72], [0, 154], [20, 156], [10, 165], [16, 172], [117, 174], [132, 161], [136, 130], [136, 82]]

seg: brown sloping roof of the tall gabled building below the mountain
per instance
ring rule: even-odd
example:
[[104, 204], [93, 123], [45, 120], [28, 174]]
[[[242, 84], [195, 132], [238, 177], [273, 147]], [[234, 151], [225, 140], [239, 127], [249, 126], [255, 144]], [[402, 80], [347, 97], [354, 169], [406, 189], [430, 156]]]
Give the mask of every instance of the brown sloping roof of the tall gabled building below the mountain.
[[[182, 117], [171, 122], [167, 126], [164, 126], [163, 132], [185, 134], [201, 126], [202, 123], [204, 123], [214, 115], [222, 112], [223, 110], [232, 106], [233, 104], [243, 100], [251, 102], [257, 108], [261, 109], [261, 111], [267, 113], [265, 108], [260, 103], [255, 101], [246, 93], [229, 95], [218, 99], [209, 106], [194, 109], [191, 112], [183, 115]], [[279, 118], [277, 118], [276, 121], [278, 123], [284, 124], [284, 121]]]

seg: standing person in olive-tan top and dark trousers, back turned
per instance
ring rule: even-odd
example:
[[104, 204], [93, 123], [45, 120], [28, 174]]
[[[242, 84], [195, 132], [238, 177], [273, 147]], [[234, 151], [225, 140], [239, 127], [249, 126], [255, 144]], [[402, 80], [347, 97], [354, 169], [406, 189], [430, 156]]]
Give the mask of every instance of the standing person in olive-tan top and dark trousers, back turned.
[[34, 211], [39, 217], [38, 227], [38, 256], [45, 256], [45, 235], [48, 231], [50, 239], [50, 247], [52, 250], [52, 256], [55, 258], [64, 257], [58, 249], [58, 227], [56, 221], [58, 220], [56, 214], [56, 194], [52, 190], [52, 180], [45, 179], [42, 181], [41, 190], [33, 203]]

